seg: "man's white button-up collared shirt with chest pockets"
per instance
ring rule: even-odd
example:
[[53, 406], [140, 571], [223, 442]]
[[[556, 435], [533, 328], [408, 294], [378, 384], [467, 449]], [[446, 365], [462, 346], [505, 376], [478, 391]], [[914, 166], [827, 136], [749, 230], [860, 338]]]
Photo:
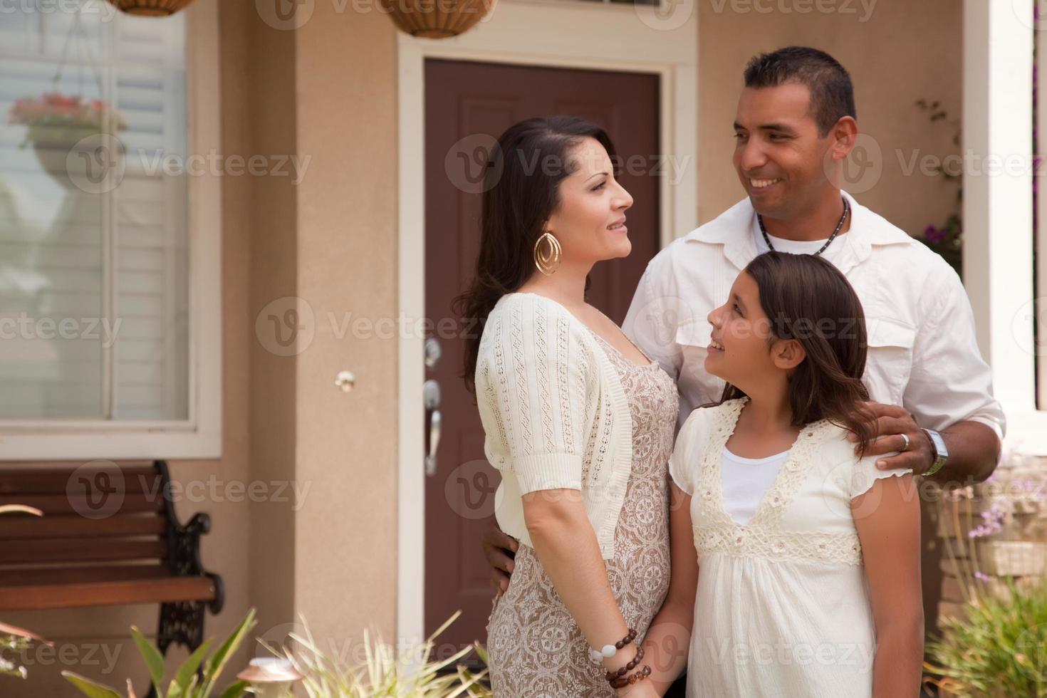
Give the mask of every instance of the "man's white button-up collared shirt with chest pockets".
[[[881, 216], [850, 202], [851, 224], [823, 253], [862, 300], [868, 333], [865, 384], [875, 402], [900, 405], [922, 427], [981, 422], [1002, 440], [1005, 419], [988, 364], [975, 340], [974, 314], [959, 276], [938, 254]], [[826, 234], [829, 231], [826, 231]], [[783, 252], [814, 252], [824, 241], [772, 238]], [[767, 247], [744, 199], [673, 241], [647, 265], [622, 330], [676, 380], [680, 423], [719, 400], [723, 381], [706, 373], [710, 311]], [[847, 331], [847, 318], [833, 318]]]

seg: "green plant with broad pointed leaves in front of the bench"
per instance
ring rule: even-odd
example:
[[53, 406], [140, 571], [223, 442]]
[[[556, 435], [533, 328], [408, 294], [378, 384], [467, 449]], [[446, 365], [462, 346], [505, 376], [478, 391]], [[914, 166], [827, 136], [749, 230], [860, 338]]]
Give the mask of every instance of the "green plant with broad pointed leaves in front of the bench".
[[[210, 649], [213, 640], [205, 640], [178, 667], [166, 693], [160, 688], [160, 683], [163, 681], [163, 655], [146, 639], [138, 628], [132, 626], [131, 636], [149, 668], [157, 698], [208, 698], [215, 690], [215, 681], [225, 669], [229, 656], [243, 644], [244, 637], [254, 625], [254, 609], [252, 608], [236, 630], [209, 656], [207, 651]], [[201, 668], [202, 671], [198, 673]], [[97, 683], [73, 672], [65, 671], [62, 672], [62, 675], [88, 698], [120, 698], [120, 694], [108, 685]], [[136, 698], [134, 689], [131, 688], [131, 679], [128, 679], [127, 690], [128, 698]], [[221, 698], [239, 698], [246, 691], [246, 681], [235, 681], [221, 693]]]

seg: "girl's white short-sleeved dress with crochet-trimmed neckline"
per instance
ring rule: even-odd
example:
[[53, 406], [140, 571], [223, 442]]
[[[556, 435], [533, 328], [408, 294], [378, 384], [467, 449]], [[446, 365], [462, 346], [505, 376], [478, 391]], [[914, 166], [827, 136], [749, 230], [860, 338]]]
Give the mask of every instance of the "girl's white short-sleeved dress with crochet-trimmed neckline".
[[859, 459], [847, 430], [823, 420], [740, 525], [723, 506], [720, 454], [747, 401], [695, 409], [669, 464], [691, 495], [699, 565], [687, 695], [870, 696], [875, 633], [850, 501], [912, 471]]

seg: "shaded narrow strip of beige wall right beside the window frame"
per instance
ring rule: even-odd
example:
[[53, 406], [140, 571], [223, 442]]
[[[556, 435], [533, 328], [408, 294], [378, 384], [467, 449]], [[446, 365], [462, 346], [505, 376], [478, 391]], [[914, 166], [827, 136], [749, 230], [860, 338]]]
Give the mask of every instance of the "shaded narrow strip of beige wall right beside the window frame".
[[[228, 57], [222, 70], [223, 141], [245, 155], [294, 153], [294, 32], [266, 25], [250, 3], [222, 3], [221, 22], [228, 27], [223, 39], [228, 32], [242, 33], [236, 39], [239, 46], [222, 48]], [[226, 356], [245, 366], [250, 477], [293, 481], [296, 357], [267, 351], [254, 320], [271, 300], [296, 295], [296, 192], [286, 177], [226, 178], [223, 185], [224, 233], [236, 241], [244, 270], [239, 279], [244, 305], [236, 312], [245, 320], [247, 344], [241, 354]], [[259, 609], [264, 630], [294, 617], [296, 521], [290, 501], [253, 502], [248, 509], [247, 535], [235, 535], [250, 551], [250, 582], [244, 592]]]

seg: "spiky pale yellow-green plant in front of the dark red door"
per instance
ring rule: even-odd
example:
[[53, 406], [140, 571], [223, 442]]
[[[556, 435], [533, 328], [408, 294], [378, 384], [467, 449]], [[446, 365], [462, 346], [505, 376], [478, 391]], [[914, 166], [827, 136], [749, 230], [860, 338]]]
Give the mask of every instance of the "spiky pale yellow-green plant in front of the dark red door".
[[436, 637], [461, 614], [462, 611], [459, 611], [452, 615], [421, 647], [408, 648], [399, 655], [380, 637], [372, 644], [370, 634], [364, 631], [365, 659], [357, 666], [347, 666], [320, 648], [305, 618], [302, 620], [305, 635], [290, 635], [295, 645], [293, 649], [275, 649], [262, 644], [273, 654], [290, 659], [294, 668], [305, 675], [303, 685], [309, 698], [489, 698], [492, 694], [483, 682], [486, 669], [473, 674], [459, 665], [451, 672], [447, 671], [474, 650], [486, 665], [487, 652], [478, 643], [446, 659], [430, 659]]

